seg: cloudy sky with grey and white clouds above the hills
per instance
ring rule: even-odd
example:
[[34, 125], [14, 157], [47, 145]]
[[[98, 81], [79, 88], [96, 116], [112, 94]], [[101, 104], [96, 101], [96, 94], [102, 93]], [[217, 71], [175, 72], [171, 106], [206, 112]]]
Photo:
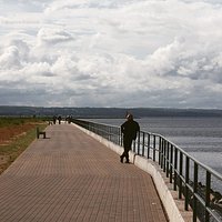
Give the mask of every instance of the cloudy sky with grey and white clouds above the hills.
[[222, 109], [222, 0], [0, 0], [0, 104]]

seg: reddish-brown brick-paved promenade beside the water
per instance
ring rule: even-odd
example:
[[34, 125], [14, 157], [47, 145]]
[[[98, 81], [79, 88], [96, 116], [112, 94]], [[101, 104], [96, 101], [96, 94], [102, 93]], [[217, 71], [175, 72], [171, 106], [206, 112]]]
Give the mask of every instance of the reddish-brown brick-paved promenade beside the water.
[[74, 125], [47, 128], [0, 175], [0, 222], [164, 222], [151, 176]]

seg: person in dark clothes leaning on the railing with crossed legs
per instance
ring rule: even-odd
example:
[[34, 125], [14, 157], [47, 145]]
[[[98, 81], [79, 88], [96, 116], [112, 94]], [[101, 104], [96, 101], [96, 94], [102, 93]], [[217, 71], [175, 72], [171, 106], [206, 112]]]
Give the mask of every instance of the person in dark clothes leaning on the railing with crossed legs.
[[124, 151], [122, 155], [120, 155], [120, 162], [122, 163], [125, 158], [125, 163], [129, 163], [129, 151], [131, 150], [132, 141], [137, 139], [137, 134], [140, 132], [140, 125], [133, 120], [132, 114], [127, 115], [127, 121], [121, 124], [121, 132], [123, 134]]

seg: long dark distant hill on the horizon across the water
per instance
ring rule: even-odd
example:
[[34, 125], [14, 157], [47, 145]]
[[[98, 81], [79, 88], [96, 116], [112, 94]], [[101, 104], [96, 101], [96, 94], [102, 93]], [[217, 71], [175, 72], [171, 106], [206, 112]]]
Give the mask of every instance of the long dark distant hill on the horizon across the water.
[[43, 108], [0, 105], [0, 115], [52, 117], [72, 115], [73, 118], [124, 118], [128, 112], [135, 118], [145, 117], [222, 117], [222, 110], [206, 109], [165, 109], [165, 108]]

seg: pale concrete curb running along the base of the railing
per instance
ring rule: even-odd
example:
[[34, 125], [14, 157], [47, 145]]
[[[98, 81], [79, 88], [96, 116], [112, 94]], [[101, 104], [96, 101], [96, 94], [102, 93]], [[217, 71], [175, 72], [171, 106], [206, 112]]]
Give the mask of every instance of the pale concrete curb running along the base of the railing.
[[[73, 123], [72, 123], [73, 124]], [[81, 131], [91, 135], [109, 149], [113, 150], [118, 154], [122, 154], [123, 148], [117, 145], [107, 139], [85, 130], [77, 124], [74, 127], [79, 128]], [[192, 212], [184, 211], [184, 201], [178, 199], [178, 192], [173, 191], [172, 184], [169, 181], [169, 178], [165, 176], [165, 173], [158, 165], [158, 163], [148, 160], [145, 158], [137, 155], [134, 152], [129, 152], [130, 162], [140, 168], [141, 170], [148, 172], [155, 184], [159, 196], [163, 203], [165, 212], [169, 216], [170, 222], [191, 222], [192, 221]]]

